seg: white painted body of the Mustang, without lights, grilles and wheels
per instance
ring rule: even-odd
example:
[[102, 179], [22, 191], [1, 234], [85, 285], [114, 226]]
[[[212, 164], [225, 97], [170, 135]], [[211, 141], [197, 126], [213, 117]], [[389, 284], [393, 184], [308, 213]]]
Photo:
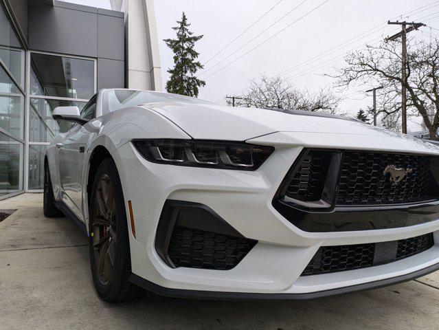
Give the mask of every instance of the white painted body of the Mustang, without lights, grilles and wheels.
[[[64, 201], [88, 228], [89, 160], [98, 146], [109, 151], [125, 202], [133, 204], [136, 237], [129, 234], [133, 274], [172, 289], [304, 294], [410, 274], [439, 263], [439, 219], [405, 228], [304, 232], [271, 204], [303, 148], [439, 155], [438, 146], [353, 120], [209, 104], [157, 102], [102, 115], [102, 93], [98, 117], [58, 135], [47, 148], [49, 169], [55, 198]], [[131, 143], [152, 138], [246, 141], [275, 146], [275, 151], [254, 171], [173, 166], [149, 162]], [[202, 203], [258, 244], [232, 270], [171, 268], [155, 250], [157, 224], [167, 199]], [[430, 232], [434, 232], [434, 248], [408, 259], [300, 276], [321, 246], [396, 241]]]

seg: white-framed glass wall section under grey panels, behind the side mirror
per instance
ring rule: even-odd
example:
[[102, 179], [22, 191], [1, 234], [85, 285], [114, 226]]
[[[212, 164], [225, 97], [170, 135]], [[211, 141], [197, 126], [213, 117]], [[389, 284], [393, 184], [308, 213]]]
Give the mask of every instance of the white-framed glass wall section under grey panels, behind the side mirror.
[[41, 190], [44, 183], [44, 155], [58, 133], [69, 129], [68, 122], [52, 118], [56, 107], [76, 105], [80, 109], [95, 94], [95, 60], [28, 52], [29, 126], [27, 134], [27, 190]]

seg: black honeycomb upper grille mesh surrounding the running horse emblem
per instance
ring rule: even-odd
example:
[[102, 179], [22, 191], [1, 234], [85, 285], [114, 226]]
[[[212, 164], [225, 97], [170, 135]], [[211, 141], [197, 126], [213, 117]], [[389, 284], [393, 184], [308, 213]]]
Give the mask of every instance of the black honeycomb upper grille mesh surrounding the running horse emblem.
[[[434, 180], [430, 159], [425, 155], [345, 151], [341, 161], [337, 205], [385, 205], [434, 199], [429, 193], [430, 182]], [[394, 185], [390, 175], [383, 175], [389, 165], [412, 168], [412, 173]]]

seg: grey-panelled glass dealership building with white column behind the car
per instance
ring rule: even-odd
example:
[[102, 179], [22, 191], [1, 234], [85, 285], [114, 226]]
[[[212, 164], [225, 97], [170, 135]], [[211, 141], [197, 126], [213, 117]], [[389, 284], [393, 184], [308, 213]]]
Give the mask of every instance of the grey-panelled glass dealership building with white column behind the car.
[[42, 191], [45, 148], [65, 130], [54, 108], [102, 88], [161, 91], [153, 0], [110, 2], [0, 0], [0, 199]]

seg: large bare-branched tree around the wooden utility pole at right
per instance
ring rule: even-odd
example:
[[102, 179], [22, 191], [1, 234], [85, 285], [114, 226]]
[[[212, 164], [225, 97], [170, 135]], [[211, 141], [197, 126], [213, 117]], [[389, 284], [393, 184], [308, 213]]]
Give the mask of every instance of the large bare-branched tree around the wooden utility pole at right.
[[430, 138], [438, 139], [439, 129], [439, 40], [410, 39], [407, 45], [407, 78], [401, 78], [401, 41], [390, 41], [365, 50], [350, 52], [346, 67], [339, 69], [336, 85], [382, 85], [377, 113], [384, 126], [396, 129], [401, 118], [401, 84], [407, 89], [408, 115], [421, 115]]

